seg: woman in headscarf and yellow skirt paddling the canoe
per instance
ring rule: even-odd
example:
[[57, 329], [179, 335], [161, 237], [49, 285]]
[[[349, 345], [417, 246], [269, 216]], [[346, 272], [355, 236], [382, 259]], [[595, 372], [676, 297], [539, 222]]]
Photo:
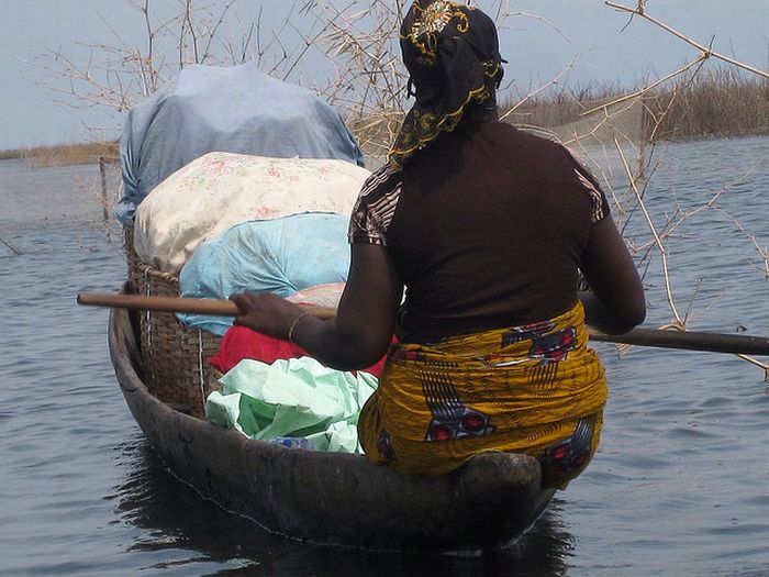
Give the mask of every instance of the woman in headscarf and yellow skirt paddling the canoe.
[[491, 19], [417, 0], [401, 47], [415, 104], [353, 211], [337, 317], [244, 293], [235, 323], [338, 369], [388, 352], [358, 423], [368, 459], [442, 475], [478, 453], [526, 453], [544, 486], [565, 488], [595, 452], [608, 393], [586, 321], [639, 324], [640, 279], [591, 174], [498, 120]]

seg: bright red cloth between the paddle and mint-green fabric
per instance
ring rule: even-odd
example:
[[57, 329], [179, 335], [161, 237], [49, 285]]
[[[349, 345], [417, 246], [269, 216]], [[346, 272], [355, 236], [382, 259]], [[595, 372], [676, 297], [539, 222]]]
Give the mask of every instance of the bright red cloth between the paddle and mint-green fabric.
[[[394, 337], [393, 342], [395, 342]], [[310, 355], [301, 346], [288, 341], [272, 339], [245, 326], [231, 326], [224, 333], [219, 353], [211, 357], [209, 363], [222, 373], [226, 373], [244, 358], [272, 364], [279, 358], [298, 358], [300, 356]], [[384, 358], [380, 358], [376, 365], [365, 369], [365, 373], [379, 377]]]

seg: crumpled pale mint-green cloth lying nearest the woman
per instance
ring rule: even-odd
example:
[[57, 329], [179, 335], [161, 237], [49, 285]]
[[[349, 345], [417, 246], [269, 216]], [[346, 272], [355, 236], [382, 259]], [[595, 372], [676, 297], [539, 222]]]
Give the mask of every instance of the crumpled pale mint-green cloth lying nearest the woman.
[[250, 439], [305, 439], [320, 451], [360, 453], [360, 409], [377, 378], [330, 369], [310, 357], [268, 365], [243, 360], [205, 402], [209, 421]]

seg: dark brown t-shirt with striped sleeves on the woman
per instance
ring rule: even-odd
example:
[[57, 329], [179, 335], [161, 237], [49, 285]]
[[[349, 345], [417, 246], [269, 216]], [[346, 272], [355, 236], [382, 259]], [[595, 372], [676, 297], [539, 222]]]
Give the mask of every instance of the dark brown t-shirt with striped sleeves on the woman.
[[406, 287], [406, 339], [550, 319], [577, 298], [590, 228], [609, 213], [559, 144], [502, 122], [442, 136], [364, 185], [352, 243], [387, 246]]

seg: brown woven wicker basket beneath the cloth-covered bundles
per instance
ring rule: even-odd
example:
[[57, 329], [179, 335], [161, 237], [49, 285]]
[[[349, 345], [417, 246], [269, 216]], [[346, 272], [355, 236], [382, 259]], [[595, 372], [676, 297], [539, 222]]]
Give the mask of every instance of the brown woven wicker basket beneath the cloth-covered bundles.
[[[136, 295], [179, 296], [178, 277], [142, 263], [125, 228], [129, 290]], [[190, 329], [174, 313], [140, 311], [142, 363], [147, 387], [161, 401], [202, 418], [205, 398], [218, 390], [221, 373], [209, 365], [222, 342], [208, 331]]]

